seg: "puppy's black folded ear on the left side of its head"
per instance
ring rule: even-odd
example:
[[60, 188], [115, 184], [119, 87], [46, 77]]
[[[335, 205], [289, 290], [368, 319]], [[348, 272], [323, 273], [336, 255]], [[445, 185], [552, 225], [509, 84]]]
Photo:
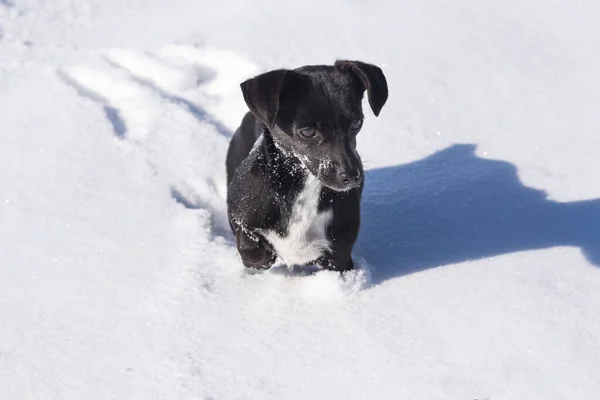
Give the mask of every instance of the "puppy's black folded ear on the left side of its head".
[[277, 69], [240, 84], [246, 105], [263, 124], [273, 128], [285, 82], [293, 71]]

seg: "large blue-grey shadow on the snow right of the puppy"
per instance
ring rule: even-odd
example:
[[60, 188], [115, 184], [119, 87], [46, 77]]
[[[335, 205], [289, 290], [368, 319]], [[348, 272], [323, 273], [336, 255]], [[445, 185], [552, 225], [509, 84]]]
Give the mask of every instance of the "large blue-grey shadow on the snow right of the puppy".
[[367, 171], [356, 254], [374, 283], [522, 250], [577, 246], [600, 266], [600, 199], [559, 203], [524, 186], [514, 165], [454, 145]]

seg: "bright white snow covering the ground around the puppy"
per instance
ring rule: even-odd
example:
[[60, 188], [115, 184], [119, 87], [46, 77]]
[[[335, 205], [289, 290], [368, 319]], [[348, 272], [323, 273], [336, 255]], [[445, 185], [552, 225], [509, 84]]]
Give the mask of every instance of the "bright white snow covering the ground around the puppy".
[[[0, 0], [0, 399], [596, 399], [592, 1]], [[239, 83], [382, 66], [357, 271], [248, 273]]]

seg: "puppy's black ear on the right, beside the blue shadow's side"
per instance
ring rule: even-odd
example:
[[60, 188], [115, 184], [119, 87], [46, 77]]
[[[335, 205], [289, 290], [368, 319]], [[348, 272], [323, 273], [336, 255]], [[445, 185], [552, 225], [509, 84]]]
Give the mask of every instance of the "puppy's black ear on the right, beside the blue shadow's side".
[[334, 66], [343, 72], [355, 74], [363, 83], [369, 97], [369, 104], [375, 116], [383, 108], [388, 97], [387, 81], [381, 68], [360, 61], [337, 60]]

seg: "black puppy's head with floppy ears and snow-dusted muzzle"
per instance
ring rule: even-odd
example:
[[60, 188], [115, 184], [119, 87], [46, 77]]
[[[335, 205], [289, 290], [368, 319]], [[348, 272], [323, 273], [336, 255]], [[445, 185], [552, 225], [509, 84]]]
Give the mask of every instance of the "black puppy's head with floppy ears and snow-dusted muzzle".
[[379, 67], [336, 61], [280, 69], [249, 79], [241, 88], [248, 108], [277, 146], [298, 157], [323, 185], [344, 191], [361, 184], [356, 135], [363, 124], [363, 94], [366, 90], [376, 116], [388, 97]]

